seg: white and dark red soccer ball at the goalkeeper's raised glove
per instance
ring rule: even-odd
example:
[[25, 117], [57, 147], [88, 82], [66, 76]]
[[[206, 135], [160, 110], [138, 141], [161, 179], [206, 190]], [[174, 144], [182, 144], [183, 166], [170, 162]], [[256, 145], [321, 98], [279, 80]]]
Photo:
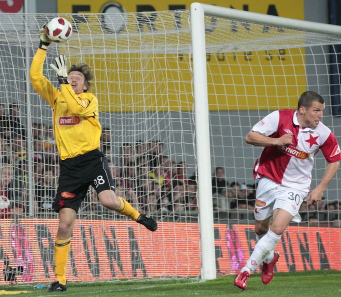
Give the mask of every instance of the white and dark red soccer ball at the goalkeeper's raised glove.
[[66, 41], [72, 35], [72, 26], [66, 18], [52, 18], [47, 24], [46, 35], [54, 42]]

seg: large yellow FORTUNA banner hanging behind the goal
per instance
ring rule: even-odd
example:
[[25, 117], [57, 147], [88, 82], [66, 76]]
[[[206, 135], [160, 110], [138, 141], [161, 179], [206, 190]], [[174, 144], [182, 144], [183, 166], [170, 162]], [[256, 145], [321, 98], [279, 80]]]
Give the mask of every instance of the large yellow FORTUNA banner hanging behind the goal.
[[[58, 13], [117, 13], [117, 12], [143, 12], [163, 11], [174, 9], [189, 9], [192, 1], [86, 1], [86, 0], [58, 0]], [[248, 10], [258, 13], [267, 13], [296, 19], [304, 18], [303, 0], [239, 0], [232, 1], [203, 1], [208, 4]], [[136, 17], [135, 17], [136, 18]], [[166, 45], [173, 42], [173, 37], [155, 34], [162, 31], [164, 23], [161, 16], [141, 17], [134, 19], [128, 17], [124, 21], [128, 27], [122, 26], [124, 21], [106, 19], [105, 16], [98, 19], [78, 18], [78, 33], [88, 35], [88, 40], [74, 43], [75, 50], [82, 45], [94, 44], [98, 48], [103, 43], [104, 53], [81, 54], [74, 58], [82, 59], [89, 63], [95, 72], [96, 83], [92, 88], [99, 100], [101, 111], [164, 111], [183, 110], [193, 108], [192, 75], [190, 56], [179, 54], [160, 54], [157, 46], [161, 44], [166, 51]], [[184, 25], [188, 21], [188, 15], [176, 21], [167, 23], [174, 27]], [[220, 20], [217, 21], [217, 23]], [[97, 22], [97, 25], [96, 25]], [[118, 37], [107, 38], [107, 34], [101, 41], [94, 39], [91, 34], [101, 27], [108, 33], [116, 32]], [[98, 28], [97, 28], [98, 27]], [[171, 29], [167, 27], [167, 29]], [[235, 24], [226, 22], [226, 34], [216, 35], [219, 41], [239, 36], [239, 43], [246, 36], [252, 36], [255, 27], [267, 30], [268, 35], [278, 34], [279, 38], [285, 33], [275, 28], [265, 26]], [[123, 29], [122, 29], [123, 28]], [[125, 31], [124, 31], [125, 30]], [[153, 42], [155, 53], [140, 54], [134, 44], [130, 44], [129, 34], [143, 31], [153, 34], [145, 34], [141, 44]], [[127, 33], [124, 38], [119, 38]], [[99, 32], [99, 31], [98, 31]], [[222, 32], [224, 33], [224, 31]], [[207, 38], [214, 36], [216, 32], [207, 32]], [[111, 34], [112, 35], [112, 34]], [[179, 35], [181, 42], [181, 35]], [[72, 38], [71, 38], [72, 39]], [[131, 40], [133, 40], [131, 38]], [[73, 42], [73, 43], [72, 43]], [[188, 42], [188, 40], [182, 41]], [[285, 44], [285, 41], [283, 41]], [[109, 49], [116, 50], [115, 53]], [[124, 50], [131, 51], [129, 54]], [[121, 50], [121, 51], [119, 51]], [[107, 51], [107, 52], [105, 52]], [[118, 53], [117, 53], [118, 52]], [[95, 58], [93, 58], [95, 56]], [[72, 61], [72, 57], [71, 57]], [[304, 48], [280, 49], [262, 51], [225, 51], [207, 54], [207, 81], [208, 104], [210, 110], [248, 110], [248, 109], [278, 109], [295, 108], [299, 94], [306, 90], [305, 56]]]

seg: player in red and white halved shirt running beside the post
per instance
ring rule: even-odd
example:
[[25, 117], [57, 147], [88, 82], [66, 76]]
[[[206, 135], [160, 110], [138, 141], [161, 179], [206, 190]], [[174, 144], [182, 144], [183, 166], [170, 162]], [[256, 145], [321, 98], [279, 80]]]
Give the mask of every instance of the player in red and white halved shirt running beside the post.
[[[313, 91], [298, 99], [297, 110], [277, 110], [255, 124], [246, 135], [246, 142], [264, 146], [253, 175], [259, 179], [254, 207], [254, 231], [257, 244], [246, 266], [234, 279], [241, 290], [251, 271], [262, 263], [261, 280], [268, 284], [279, 254], [274, 251], [290, 221], [300, 222], [302, 201], [312, 204], [322, 198], [327, 184], [334, 177], [341, 160], [335, 135], [320, 120], [324, 100]], [[328, 165], [314, 190], [310, 191], [314, 156], [321, 150]], [[271, 227], [270, 227], [271, 224]]]

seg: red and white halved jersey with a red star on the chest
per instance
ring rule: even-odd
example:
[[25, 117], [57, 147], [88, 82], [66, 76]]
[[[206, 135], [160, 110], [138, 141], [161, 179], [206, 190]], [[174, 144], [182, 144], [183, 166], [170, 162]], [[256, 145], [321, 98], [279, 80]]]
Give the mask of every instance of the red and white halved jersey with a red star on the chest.
[[341, 160], [335, 135], [323, 123], [316, 128], [301, 127], [295, 110], [276, 110], [256, 123], [252, 131], [278, 138], [293, 134], [293, 145], [267, 146], [253, 168], [255, 179], [263, 176], [285, 187], [308, 192], [314, 156], [320, 149], [328, 163]]

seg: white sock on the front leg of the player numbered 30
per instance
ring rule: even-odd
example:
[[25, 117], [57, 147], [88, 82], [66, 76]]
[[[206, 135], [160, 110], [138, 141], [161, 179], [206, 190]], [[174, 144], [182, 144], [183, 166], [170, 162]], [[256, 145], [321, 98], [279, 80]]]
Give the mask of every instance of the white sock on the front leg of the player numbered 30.
[[273, 252], [281, 236], [282, 235], [275, 234], [271, 230], [268, 230], [267, 233], [260, 238], [255, 245], [250, 258], [246, 263], [246, 266], [241, 269], [241, 272], [247, 271], [250, 273], [251, 271], [256, 270], [259, 264], [262, 263], [265, 258], [269, 257], [271, 252]]

